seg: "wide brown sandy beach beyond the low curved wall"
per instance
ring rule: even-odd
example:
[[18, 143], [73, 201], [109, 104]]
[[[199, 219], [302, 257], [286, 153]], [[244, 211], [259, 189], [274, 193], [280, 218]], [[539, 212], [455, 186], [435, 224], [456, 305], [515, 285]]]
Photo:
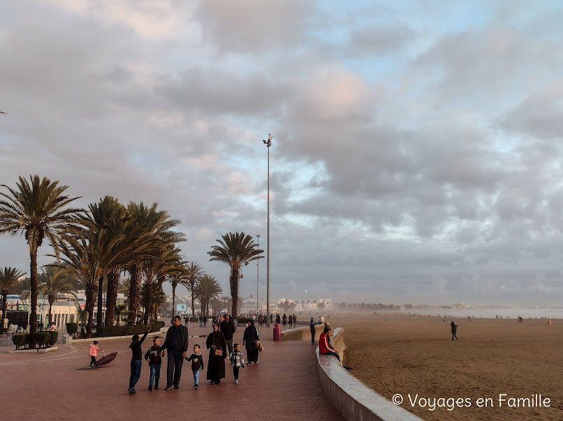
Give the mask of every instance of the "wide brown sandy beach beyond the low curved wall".
[[[401, 394], [402, 408], [423, 420], [563, 420], [563, 320], [455, 319], [458, 341], [451, 340], [451, 319], [328, 321], [346, 329], [351, 374], [387, 399]], [[409, 395], [423, 399], [413, 406]]]

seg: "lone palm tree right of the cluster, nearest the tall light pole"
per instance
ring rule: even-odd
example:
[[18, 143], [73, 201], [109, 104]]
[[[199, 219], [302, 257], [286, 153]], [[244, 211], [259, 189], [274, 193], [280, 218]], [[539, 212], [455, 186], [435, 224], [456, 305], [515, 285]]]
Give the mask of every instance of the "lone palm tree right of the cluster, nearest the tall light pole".
[[259, 250], [254, 244], [252, 236], [245, 236], [244, 232], [228, 233], [222, 236], [222, 240], [217, 240], [219, 245], [212, 246], [212, 250], [207, 252], [211, 256], [210, 261], [222, 261], [231, 268], [231, 275], [228, 282], [231, 286], [231, 297], [233, 307], [231, 312], [233, 317], [237, 314], [238, 286], [242, 278], [242, 266], [247, 266], [251, 261], [261, 259], [264, 250]]

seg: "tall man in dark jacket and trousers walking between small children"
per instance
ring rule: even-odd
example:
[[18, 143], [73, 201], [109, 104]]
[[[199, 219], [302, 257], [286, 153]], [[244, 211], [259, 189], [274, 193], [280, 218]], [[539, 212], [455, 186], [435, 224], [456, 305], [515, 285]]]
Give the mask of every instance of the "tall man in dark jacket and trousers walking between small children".
[[188, 329], [182, 326], [180, 316], [174, 316], [172, 326], [166, 332], [166, 339], [161, 349], [168, 351], [168, 366], [166, 367], [166, 389], [174, 386], [178, 388], [180, 376], [182, 376], [182, 365], [188, 351]]

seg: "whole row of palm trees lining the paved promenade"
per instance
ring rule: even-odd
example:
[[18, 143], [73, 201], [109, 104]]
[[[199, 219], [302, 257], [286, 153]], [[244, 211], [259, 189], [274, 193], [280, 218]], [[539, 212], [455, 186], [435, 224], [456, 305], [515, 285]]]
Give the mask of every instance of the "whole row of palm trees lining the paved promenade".
[[[106, 196], [85, 211], [71, 207], [79, 197], [66, 195], [68, 186], [48, 178], [30, 176], [28, 181], [20, 176], [16, 188], [1, 187], [8, 189], [8, 193], [0, 192], [0, 234], [24, 234], [29, 248], [30, 332], [37, 331], [37, 253], [45, 237], [54, 249], [52, 257], [57, 259], [43, 275], [46, 289], [50, 289], [46, 293], [50, 307], [57, 298], [50, 284], [64, 285], [71, 277], [80, 280], [85, 289], [88, 335], [92, 333], [96, 299], [97, 326], [113, 325], [122, 272], [129, 273], [129, 323], [135, 323], [141, 299], [145, 322], [151, 314], [155, 316], [155, 308], [161, 305], [159, 291], [166, 280], [173, 286], [173, 305], [178, 285], [191, 291], [192, 316], [196, 298], [200, 300], [202, 312], [207, 314], [210, 300], [222, 293], [219, 282], [205, 275], [198, 263], [184, 261], [178, 243], [185, 236], [175, 230], [180, 221], [171, 219], [166, 211], [157, 210], [156, 203], [145, 206], [142, 202], [130, 202], [125, 206], [115, 197]], [[230, 267], [232, 312], [237, 314], [242, 267], [262, 258], [263, 250], [258, 250], [252, 237], [244, 233], [228, 233], [217, 242], [219, 245], [209, 252], [210, 260], [223, 261]], [[105, 321], [102, 320], [104, 290]]]

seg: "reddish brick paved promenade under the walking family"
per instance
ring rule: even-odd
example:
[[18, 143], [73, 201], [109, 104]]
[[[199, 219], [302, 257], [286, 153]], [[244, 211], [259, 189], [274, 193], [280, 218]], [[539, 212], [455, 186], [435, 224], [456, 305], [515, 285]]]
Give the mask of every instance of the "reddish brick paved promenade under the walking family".
[[[207, 328], [190, 328], [203, 335]], [[149, 367], [143, 362], [137, 394], [129, 395], [128, 340], [101, 341], [117, 358], [105, 367], [89, 369], [87, 342], [57, 344], [59, 351], [44, 354], [8, 354], [13, 346], [0, 346], [0, 418], [77, 421], [119, 420], [342, 420], [321, 392], [315, 369], [314, 345], [310, 342], [272, 342], [272, 328], [258, 328], [265, 351], [258, 365], [240, 369], [240, 383], [233, 383], [231, 366], [220, 385], [205, 381], [193, 390], [191, 365], [184, 362], [179, 390], [149, 392]], [[244, 328], [237, 328], [234, 342], [242, 345]], [[5, 342], [4, 342], [5, 343]], [[189, 339], [205, 348], [205, 338]], [[143, 353], [152, 344], [147, 338]], [[242, 346], [241, 346], [242, 349]], [[191, 353], [191, 352], [189, 352]], [[204, 350], [207, 369], [208, 351]], [[246, 353], [244, 352], [246, 359]], [[100, 353], [101, 354], [101, 353]], [[166, 387], [166, 358], [161, 369], [161, 388]], [[210, 410], [212, 413], [210, 413]]]

